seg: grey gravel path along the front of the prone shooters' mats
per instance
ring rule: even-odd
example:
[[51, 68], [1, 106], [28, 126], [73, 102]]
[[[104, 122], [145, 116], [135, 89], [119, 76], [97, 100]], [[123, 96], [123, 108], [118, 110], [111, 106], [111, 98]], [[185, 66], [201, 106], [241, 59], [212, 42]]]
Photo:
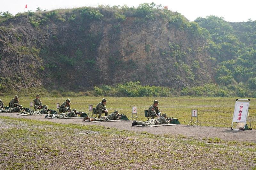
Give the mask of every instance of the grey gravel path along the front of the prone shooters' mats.
[[[128, 131], [147, 131], [152, 134], [182, 134], [187, 137], [195, 137], [197, 139], [202, 138], [220, 138], [223, 140], [237, 140], [237, 141], [247, 141], [256, 143], [256, 131], [234, 131], [229, 128], [220, 127], [209, 127], [209, 126], [187, 126], [180, 124], [178, 126], [161, 126], [152, 128], [142, 128], [132, 126], [132, 121], [128, 122], [102, 122], [102, 123], [90, 123], [83, 122], [83, 119], [45, 119], [43, 116], [20, 116], [17, 113], [1, 113], [1, 116], [9, 116], [15, 118], [28, 118], [41, 121], [51, 121], [63, 124], [84, 124], [84, 125], [101, 125], [106, 127], [113, 127]], [[231, 124], [230, 124], [231, 125]]]

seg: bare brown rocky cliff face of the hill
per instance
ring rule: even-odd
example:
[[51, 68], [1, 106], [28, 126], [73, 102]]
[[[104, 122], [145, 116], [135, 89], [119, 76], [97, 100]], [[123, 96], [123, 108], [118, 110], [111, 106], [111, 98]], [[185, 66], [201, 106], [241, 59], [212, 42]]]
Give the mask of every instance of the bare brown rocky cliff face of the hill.
[[206, 40], [161, 18], [71, 17], [39, 16], [37, 25], [21, 15], [0, 23], [5, 89], [86, 90], [125, 81], [182, 88], [213, 81]]

